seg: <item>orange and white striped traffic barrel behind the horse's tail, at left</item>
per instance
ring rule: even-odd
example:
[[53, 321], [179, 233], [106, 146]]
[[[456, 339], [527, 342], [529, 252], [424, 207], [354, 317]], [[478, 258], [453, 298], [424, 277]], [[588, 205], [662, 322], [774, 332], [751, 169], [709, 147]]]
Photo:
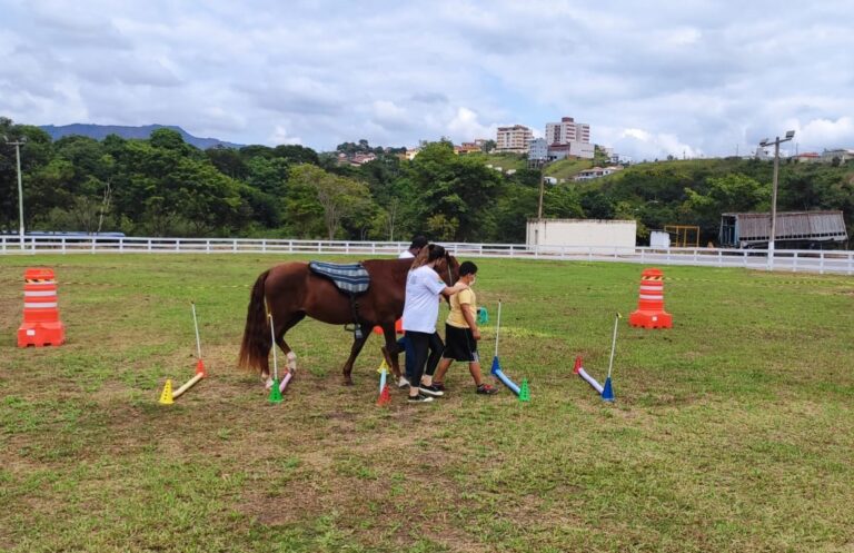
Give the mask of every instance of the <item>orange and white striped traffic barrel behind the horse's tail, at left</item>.
[[66, 327], [59, 320], [53, 270], [27, 269], [23, 279], [23, 323], [18, 328], [18, 347], [62, 345]]

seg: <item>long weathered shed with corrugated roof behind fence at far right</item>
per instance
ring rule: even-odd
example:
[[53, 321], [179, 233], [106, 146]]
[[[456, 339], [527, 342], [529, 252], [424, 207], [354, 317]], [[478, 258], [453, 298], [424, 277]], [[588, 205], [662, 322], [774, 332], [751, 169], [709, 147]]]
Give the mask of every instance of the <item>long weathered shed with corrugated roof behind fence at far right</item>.
[[[842, 211], [785, 211], [777, 214], [774, 244], [783, 248], [815, 248], [848, 240]], [[723, 214], [722, 247], [765, 248], [771, 237], [771, 214]]]

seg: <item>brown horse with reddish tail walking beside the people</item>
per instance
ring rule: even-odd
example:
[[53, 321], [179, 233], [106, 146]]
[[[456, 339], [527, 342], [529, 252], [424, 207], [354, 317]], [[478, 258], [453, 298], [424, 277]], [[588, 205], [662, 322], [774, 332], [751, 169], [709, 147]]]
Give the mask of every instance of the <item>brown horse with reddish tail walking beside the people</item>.
[[[374, 326], [383, 328], [391, 372], [397, 378], [400, 377], [395, 322], [404, 314], [406, 275], [411, 264], [413, 259], [363, 261], [370, 275], [370, 287], [357, 296], [363, 337], [354, 337], [350, 357], [341, 369], [345, 384], [352, 384], [352, 364]], [[440, 258], [435, 269], [448, 286], [453, 286], [459, 276], [459, 263], [451, 255]], [[276, 344], [285, 352], [289, 369], [296, 368], [297, 356], [285, 342], [285, 333], [306, 315], [330, 325], [354, 323], [349, 297], [328, 278], [312, 273], [307, 263], [286, 263], [261, 273], [249, 299], [239, 364], [244, 368], [258, 368], [264, 379], [270, 375], [268, 356], [272, 347], [265, 304], [272, 314]]]

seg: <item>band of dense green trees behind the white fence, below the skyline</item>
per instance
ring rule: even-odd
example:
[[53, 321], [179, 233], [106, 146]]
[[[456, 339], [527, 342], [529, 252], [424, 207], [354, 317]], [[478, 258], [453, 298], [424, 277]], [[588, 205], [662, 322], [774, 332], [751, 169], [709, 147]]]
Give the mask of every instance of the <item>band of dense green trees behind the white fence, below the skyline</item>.
[[[294, 145], [199, 150], [171, 129], [149, 139], [69, 136], [0, 118], [0, 137], [21, 148], [28, 230], [122, 231], [129, 236], [245, 236], [520, 243], [537, 215], [540, 172], [513, 175], [489, 156], [457, 156], [447, 140], [404, 149], [345, 142], [318, 154]], [[374, 152], [358, 167], [338, 152]], [[0, 141], [0, 230], [14, 231], [14, 148]], [[556, 165], [556, 164], [555, 164]], [[854, 166], [784, 164], [778, 210], [854, 215]], [[723, 159], [640, 164], [588, 181], [548, 185], [547, 218], [638, 220], [638, 241], [664, 225], [697, 225], [714, 240], [722, 213], [769, 210], [768, 161]]]

